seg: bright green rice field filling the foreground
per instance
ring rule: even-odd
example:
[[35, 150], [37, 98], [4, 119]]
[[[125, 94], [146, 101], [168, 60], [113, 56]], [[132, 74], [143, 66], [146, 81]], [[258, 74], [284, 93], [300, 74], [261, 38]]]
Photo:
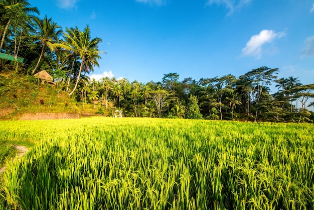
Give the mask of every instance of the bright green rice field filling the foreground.
[[313, 209], [314, 125], [94, 117], [0, 122], [32, 144], [0, 209]]

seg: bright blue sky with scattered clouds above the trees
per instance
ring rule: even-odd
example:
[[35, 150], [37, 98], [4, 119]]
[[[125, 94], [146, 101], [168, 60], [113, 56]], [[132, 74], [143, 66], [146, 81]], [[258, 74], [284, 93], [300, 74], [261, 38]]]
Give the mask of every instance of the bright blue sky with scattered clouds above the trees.
[[29, 0], [62, 29], [103, 40], [93, 77], [240, 76], [261, 66], [314, 82], [314, 0]]

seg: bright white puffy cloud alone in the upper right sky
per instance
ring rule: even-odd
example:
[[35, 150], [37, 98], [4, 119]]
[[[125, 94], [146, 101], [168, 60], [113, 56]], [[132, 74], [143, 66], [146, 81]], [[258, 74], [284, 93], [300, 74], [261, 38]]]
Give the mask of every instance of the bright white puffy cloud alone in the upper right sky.
[[259, 59], [262, 55], [262, 46], [264, 44], [271, 43], [284, 35], [284, 32], [276, 33], [273, 30], [262, 30], [259, 34], [251, 37], [245, 48], [242, 49], [242, 54], [245, 56], [256, 56]]

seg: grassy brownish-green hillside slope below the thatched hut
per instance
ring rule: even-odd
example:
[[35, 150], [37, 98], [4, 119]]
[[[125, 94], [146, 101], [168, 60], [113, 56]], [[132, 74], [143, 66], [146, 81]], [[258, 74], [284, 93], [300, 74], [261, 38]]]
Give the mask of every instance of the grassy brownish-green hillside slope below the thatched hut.
[[68, 93], [15, 71], [0, 72], [0, 101], [1, 120], [18, 120], [26, 113], [80, 114]]

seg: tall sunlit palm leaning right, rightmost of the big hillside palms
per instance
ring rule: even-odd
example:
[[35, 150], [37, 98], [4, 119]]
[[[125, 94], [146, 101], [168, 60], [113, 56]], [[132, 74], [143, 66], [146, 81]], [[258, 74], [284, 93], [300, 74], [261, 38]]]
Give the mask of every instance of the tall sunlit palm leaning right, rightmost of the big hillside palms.
[[88, 26], [86, 26], [83, 31], [80, 31], [78, 27], [75, 29], [67, 28], [66, 32], [67, 33], [64, 34], [66, 40], [59, 46], [70, 50], [73, 54], [79, 54], [79, 59], [81, 60], [76, 83], [73, 90], [69, 93], [69, 95], [72, 95], [76, 90], [82, 70], [84, 69], [86, 71], [92, 66], [98, 65], [97, 59], [100, 59], [98, 44], [102, 42], [102, 40], [98, 37], [91, 39], [90, 29]]

